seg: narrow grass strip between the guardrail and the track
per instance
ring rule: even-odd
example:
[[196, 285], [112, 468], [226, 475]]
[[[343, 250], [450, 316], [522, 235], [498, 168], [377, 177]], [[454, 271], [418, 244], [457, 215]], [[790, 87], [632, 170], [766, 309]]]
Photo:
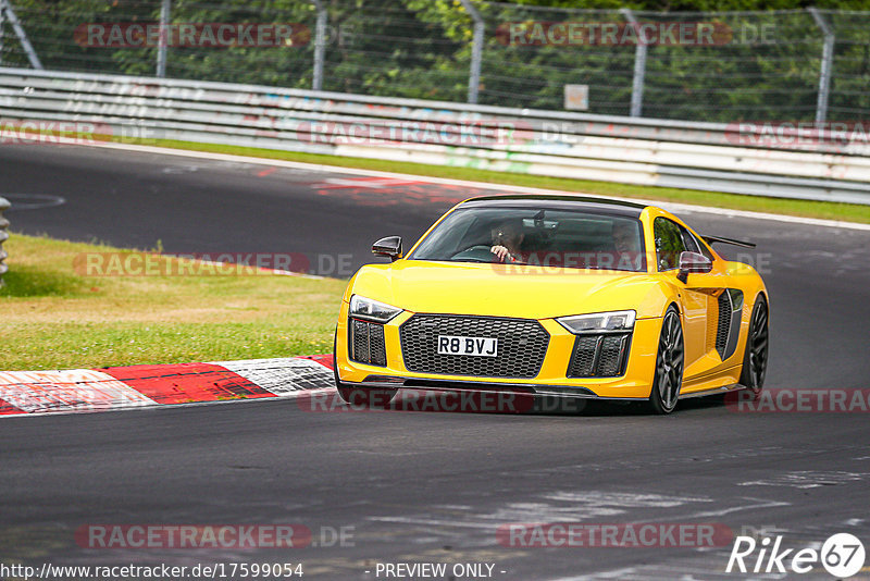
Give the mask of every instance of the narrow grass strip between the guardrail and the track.
[[306, 163], [319, 163], [339, 168], [360, 168], [364, 170], [407, 173], [431, 177], [485, 182], [488, 184], [539, 187], [563, 191], [581, 191], [592, 195], [597, 194], [602, 196], [674, 201], [698, 206], [709, 206], [713, 208], [750, 210], [755, 212], [769, 212], [774, 214], [788, 214], [805, 218], [822, 218], [826, 220], [870, 223], [870, 206], [857, 203], [834, 203], [828, 201], [768, 198], [761, 196], [741, 196], [737, 194], [700, 191], [695, 189], [634, 186], [626, 184], [614, 184], [611, 182], [593, 182], [584, 180], [568, 180], [563, 177], [546, 177], [539, 175], [494, 172], [487, 170], [477, 170], [474, 168], [426, 165], [422, 163], [365, 158], [340, 158], [335, 156], [300, 153], [275, 149], [192, 144], [188, 141], [172, 141], [165, 139], [150, 139], [141, 143], [142, 145], [152, 145], [157, 147], [169, 147], [195, 151], [213, 151], [217, 153], [229, 153], [235, 156], [249, 156], [266, 159], [299, 161]]

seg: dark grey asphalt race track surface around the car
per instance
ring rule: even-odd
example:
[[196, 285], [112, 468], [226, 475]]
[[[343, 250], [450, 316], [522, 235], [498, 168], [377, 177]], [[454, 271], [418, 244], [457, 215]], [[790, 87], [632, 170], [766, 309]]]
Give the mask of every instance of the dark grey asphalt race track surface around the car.
[[[178, 252], [350, 255], [357, 267], [375, 238], [414, 240], [467, 194], [84, 147], [0, 148], [14, 231], [139, 248], [160, 239]], [[39, 207], [40, 195], [65, 202]], [[683, 218], [758, 243], [748, 258], [771, 295], [767, 387], [869, 387], [870, 233]], [[496, 531], [511, 522], [710, 522], [782, 534], [784, 547], [818, 548], [836, 532], [870, 546], [866, 412], [747, 413], [695, 399], [669, 417], [326, 413], [285, 399], [10, 418], [0, 442], [7, 564], [294, 561], [304, 579], [360, 580], [399, 561], [488, 563], [506, 580], [766, 577], [725, 573], [730, 543], [504, 546]], [[351, 527], [352, 546], [84, 549], [73, 532], [86, 523]], [[831, 579], [818, 567], [790, 578]]]

